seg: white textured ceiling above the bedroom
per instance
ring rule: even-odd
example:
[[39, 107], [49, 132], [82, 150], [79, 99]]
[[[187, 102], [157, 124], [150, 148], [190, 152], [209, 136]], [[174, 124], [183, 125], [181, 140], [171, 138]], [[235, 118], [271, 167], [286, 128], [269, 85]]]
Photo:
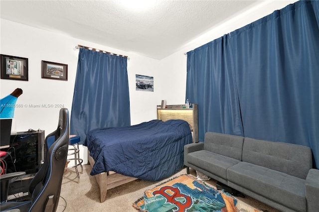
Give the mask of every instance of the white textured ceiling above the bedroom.
[[0, 14], [3, 19], [160, 60], [256, 2], [1, 0]]

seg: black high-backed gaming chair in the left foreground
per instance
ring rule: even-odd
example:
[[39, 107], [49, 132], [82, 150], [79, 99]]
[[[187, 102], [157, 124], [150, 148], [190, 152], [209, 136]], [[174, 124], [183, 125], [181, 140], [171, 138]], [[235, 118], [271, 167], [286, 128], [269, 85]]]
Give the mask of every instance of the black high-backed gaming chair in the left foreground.
[[[31, 200], [3, 202], [0, 204], [1, 212], [16, 209], [20, 212], [56, 211], [67, 159], [69, 134], [69, 111], [67, 108], [61, 108], [57, 129], [45, 138], [47, 141], [48, 137], [54, 136], [55, 141], [49, 147], [47, 143], [44, 145], [47, 150], [44, 163], [29, 185], [29, 192], [32, 194]], [[0, 176], [0, 180], [2, 180], [2, 176]]]

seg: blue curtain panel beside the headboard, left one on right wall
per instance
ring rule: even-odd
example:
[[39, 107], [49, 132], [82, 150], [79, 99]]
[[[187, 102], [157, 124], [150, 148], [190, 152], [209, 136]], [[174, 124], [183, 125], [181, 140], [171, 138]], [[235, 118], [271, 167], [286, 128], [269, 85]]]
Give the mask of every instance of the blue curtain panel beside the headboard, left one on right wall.
[[186, 99], [198, 104], [198, 136], [207, 131], [243, 135], [227, 36], [187, 52]]

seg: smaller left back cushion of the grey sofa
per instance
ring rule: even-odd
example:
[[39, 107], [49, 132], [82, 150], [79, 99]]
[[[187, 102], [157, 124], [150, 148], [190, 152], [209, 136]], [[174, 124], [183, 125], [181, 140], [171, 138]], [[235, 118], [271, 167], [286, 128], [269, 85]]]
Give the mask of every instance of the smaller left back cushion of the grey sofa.
[[241, 160], [244, 137], [238, 135], [206, 132], [204, 149], [220, 155]]

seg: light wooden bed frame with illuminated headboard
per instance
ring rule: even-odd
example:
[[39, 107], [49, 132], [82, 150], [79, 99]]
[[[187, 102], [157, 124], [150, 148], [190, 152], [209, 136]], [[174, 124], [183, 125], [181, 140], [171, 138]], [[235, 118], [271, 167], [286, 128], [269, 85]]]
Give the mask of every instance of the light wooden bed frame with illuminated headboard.
[[[167, 105], [167, 108], [157, 106], [157, 117], [160, 120], [166, 121], [169, 119], [182, 119], [189, 123], [192, 130], [193, 142], [198, 141], [198, 109], [197, 104], [192, 104], [192, 108], [182, 108], [183, 105]], [[88, 161], [93, 167], [95, 161], [88, 152]], [[95, 175], [100, 188], [100, 202], [106, 200], [107, 190], [117, 186], [129, 183], [137, 178], [124, 176], [115, 172], [103, 172]]]

